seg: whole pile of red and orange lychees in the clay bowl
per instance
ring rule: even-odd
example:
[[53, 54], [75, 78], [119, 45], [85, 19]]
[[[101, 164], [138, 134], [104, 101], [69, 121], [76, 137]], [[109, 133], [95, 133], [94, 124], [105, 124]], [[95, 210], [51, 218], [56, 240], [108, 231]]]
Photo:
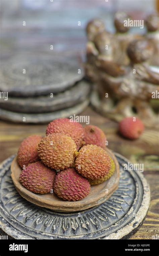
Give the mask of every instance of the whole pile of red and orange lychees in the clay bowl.
[[56, 119], [46, 136], [33, 135], [19, 147], [20, 183], [33, 193], [55, 193], [65, 201], [85, 198], [91, 185], [111, 177], [115, 164], [106, 153], [106, 136], [97, 126]]

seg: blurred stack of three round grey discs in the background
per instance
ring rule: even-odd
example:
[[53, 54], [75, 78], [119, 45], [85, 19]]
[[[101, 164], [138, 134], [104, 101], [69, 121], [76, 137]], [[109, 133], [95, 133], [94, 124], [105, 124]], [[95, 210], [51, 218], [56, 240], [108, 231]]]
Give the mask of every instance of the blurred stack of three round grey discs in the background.
[[79, 114], [89, 104], [90, 84], [75, 57], [19, 54], [2, 61], [0, 118], [44, 123]]

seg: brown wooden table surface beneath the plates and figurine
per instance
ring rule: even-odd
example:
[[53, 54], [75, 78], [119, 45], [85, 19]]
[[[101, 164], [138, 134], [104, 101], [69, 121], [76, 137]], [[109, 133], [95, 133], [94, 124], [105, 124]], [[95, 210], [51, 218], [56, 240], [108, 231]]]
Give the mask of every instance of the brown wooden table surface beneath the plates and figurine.
[[[108, 147], [131, 162], [144, 163], [144, 172], [151, 189], [151, 203], [147, 217], [130, 239], [152, 239], [159, 236], [159, 168], [158, 132], [146, 129], [140, 139], [130, 141], [118, 134], [118, 124], [102, 117], [90, 106], [80, 115], [90, 116], [90, 124], [99, 126], [106, 134]], [[45, 135], [47, 124], [14, 124], [0, 121], [0, 162], [17, 153], [20, 142], [33, 134]]]

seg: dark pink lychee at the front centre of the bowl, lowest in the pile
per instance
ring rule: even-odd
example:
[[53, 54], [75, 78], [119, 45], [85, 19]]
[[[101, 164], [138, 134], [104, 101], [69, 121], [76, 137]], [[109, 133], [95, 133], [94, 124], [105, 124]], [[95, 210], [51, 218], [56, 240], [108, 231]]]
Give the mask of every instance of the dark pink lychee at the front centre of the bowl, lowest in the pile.
[[90, 189], [89, 181], [74, 168], [60, 171], [55, 177], [54, 192], [65, 201], [79, 201], [89, 194]]

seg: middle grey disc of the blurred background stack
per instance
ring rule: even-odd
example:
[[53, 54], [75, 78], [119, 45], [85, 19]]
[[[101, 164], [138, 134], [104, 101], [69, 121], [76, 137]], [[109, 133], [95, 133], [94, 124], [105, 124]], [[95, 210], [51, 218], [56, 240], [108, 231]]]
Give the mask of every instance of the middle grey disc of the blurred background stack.
[[29, 98], [8, 97], [1, 100], [0, 107], [20, 113], [44, 113], [60, 110], [81, 103], [88, 97], [90, 84], [81, 81], [64, 92]]

